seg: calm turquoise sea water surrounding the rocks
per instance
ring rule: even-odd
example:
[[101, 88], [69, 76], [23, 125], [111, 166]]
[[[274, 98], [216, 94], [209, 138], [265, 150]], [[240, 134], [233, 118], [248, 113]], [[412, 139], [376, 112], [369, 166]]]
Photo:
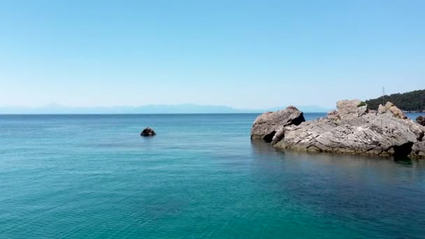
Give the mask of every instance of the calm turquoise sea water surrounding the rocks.
[[255, 117], [0, 115], [0, 238], [425, 237], [425, 161], [279, 152]]

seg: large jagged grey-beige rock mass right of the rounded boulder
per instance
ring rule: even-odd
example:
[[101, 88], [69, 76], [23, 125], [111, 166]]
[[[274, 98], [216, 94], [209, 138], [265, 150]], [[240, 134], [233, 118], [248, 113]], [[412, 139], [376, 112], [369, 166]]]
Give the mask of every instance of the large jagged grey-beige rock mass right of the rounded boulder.
[[[369, 113], [358, 100], [339, 101], [324, 118], [279, 129], [275, 147], [314, 152], [425, 157], [425, 127], [405, 117], [394, 104]], [[265, 130], [264, 130], [265, 131]]]

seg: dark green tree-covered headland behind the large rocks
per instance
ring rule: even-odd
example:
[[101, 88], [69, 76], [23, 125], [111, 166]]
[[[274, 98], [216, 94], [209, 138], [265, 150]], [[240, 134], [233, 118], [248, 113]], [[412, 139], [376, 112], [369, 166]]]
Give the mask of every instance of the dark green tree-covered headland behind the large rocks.
[[366, 101], [370, 109], [377, 110], [382, 102], [390, 101], [405, 112], [425, 112], [425, 89], [406, 92], [403, 94], [390, 94], [389, 96], [380, 96], [377, 99]]

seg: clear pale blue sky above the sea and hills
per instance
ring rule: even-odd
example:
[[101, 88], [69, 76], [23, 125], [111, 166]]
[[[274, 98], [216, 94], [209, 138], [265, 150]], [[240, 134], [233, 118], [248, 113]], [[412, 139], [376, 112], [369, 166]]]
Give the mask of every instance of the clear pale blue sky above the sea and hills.
[[0, 106], [318, 105], [425, 88], [425, 1], [0, 0]]

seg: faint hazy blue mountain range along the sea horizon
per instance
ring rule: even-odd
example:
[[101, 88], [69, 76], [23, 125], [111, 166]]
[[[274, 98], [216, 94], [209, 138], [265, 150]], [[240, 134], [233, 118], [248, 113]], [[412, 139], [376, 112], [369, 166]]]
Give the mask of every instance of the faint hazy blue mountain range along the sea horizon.
[[[269, 109], [238, 109], [229, 106], [203, 106], [192, 103], [177, 105], [112, 106], [112, 107], [69, 107], [50, 104], [41, 107], [0, 107], [0, 114], [206, 114], [206, 113], [263, 113], [281, 110], [285, 107]], [[298, 106], [305, 113], [324, 113], [331, 110], [320, 106]]]

